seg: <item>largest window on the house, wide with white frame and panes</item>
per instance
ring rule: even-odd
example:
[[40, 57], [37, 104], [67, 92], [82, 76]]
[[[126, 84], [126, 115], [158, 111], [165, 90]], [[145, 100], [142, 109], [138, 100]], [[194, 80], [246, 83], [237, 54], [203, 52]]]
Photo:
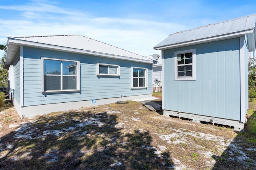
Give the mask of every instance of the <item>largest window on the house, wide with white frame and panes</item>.
[[80, 90], [79, 61], [42, 58], [42, 92]]

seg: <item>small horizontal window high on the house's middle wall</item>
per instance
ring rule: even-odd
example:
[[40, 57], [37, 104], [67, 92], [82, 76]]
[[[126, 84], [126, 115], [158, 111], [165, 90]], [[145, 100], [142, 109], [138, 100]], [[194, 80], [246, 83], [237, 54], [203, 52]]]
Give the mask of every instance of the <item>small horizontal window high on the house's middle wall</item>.
[[120, 76], [120, 66], [97, 63], [97, 76]]

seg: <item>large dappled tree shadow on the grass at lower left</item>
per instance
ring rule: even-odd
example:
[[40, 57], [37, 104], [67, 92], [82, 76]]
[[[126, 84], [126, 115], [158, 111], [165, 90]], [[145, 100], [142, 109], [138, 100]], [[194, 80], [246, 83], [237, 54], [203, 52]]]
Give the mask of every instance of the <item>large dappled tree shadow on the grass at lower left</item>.
[[0, 139], [0, 169], [172, 169], [147, 131], [123, 133], [117, 115], [53, 113]]

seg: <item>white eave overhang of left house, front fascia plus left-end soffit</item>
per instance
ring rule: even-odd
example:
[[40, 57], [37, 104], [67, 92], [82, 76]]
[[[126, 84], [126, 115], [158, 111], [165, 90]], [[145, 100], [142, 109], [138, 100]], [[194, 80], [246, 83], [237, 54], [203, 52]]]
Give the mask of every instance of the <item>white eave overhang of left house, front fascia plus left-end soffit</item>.
[[148, 61], [148, 60], [135, 59], [132, 57], [99, 53], [96, 51], [87, 51], [87, 50], [82, 50], [82, 49], [62, 47], [62, 46], [56, 46], [56, 45], [50, 45], [50, 44], [44, 44], [44, 43], [37, 43], [37, 42], [32, 42], [32, 41], [13, 39], [13, 38], [9, 37], [8, 42], [7, 42], [5, 61], [4, 61], [5, 69], [8, 69], [10, 67], [10, 65], [12, 65], [12, 61], [14, 60], [16, 53], [17, 53], [18, 49], [20, 48], [20, 46], [35, 47], [35, 48], [41, 48], [41, 49], [64, 51], [64, 52], [69, 52], [69, 53], [86, 54], [86, 55], [106, 57], [106, 58], [111, 58], [111, 59], [119, 59], [119, 60], [135, 61], [135, 62], [140, 62], [140, 63], [152, 64], [152, 61]]

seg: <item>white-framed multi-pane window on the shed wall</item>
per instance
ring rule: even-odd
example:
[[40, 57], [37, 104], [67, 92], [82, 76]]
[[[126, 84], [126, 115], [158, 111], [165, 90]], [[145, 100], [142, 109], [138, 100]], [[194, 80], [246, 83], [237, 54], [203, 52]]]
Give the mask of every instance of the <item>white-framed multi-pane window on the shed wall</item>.
[[196, 80], [196, 49], [174, 53], [174, 79]]

